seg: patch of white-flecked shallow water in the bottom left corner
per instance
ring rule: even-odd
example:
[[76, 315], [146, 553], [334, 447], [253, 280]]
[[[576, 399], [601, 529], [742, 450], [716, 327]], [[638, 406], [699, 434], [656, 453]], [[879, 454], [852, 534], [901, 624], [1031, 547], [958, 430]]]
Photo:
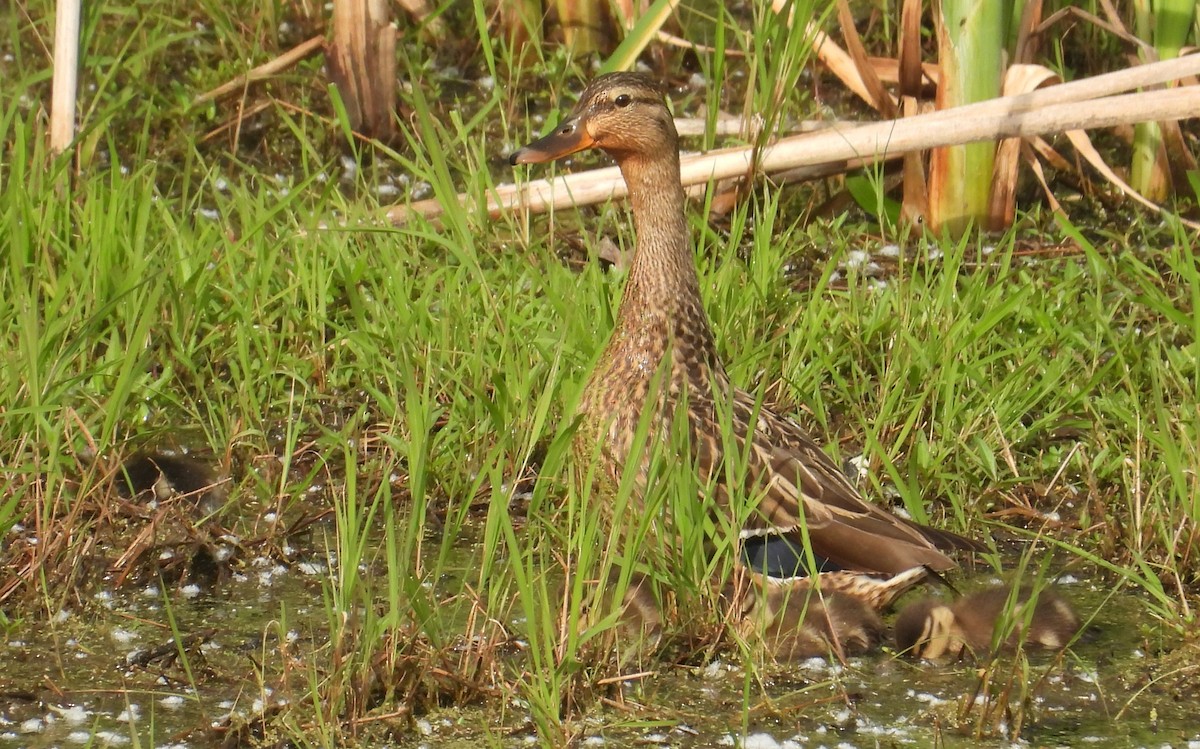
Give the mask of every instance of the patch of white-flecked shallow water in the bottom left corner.
[[[251, 661], [322, 627], [320, 573], [312, 571], [260, 559], [220, 595], [103, 592], [52, 622], [12, 628], [0, 646], [0, 745], [120, 747], [134, 735], [158, 747], [212, 744], [209, 726], [271, 699]], [[278, 625], [282, 611], [288, 629]], [[196, 640], [184, 658], [172, 625]]]

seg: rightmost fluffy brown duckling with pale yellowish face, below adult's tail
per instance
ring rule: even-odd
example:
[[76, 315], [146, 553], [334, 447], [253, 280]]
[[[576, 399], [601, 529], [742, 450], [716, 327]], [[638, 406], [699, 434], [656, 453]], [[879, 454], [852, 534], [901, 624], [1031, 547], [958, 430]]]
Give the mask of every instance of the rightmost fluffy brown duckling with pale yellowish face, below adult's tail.
[[[1030, 611], [1030, 601], [1033, 610]], [[907, 606], [896, 617], [896, 649], [913, 658], [960, 657], [988, 653], [997, 637], [1004, 649], [1019, 643], [1030, 648], [1058, 649], [1079, 633], [1079, 616], [1054, 591], [1004, 586], [971, 593], [950, 605], [932, 599]], [[1007, 633], [1007, 634], [1006, 634]]]

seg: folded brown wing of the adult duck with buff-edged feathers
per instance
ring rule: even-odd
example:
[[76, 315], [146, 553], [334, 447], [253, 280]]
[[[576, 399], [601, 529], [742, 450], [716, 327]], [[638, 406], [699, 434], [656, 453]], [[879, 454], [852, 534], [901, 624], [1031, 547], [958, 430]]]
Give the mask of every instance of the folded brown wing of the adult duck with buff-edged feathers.
[[[844, 569], [887, 574], [914, 567], [953, 569], [955, 562], [940, 549], [980, 547], [865, 502], [799, 425], [756, 409], [749, 394], [734, 391], [730, 415], [737, 447], [746, 459], [746, 485], [740, 489], [760, 497], [757, 511], [744, 521], [744, 535], [806, 534], [817, 556]], [[696, 431], [721, 433], [715, 420], [696, 425]], [[722, 465], [720, 438], [698, 439], [694, 447], [702, 472]]]

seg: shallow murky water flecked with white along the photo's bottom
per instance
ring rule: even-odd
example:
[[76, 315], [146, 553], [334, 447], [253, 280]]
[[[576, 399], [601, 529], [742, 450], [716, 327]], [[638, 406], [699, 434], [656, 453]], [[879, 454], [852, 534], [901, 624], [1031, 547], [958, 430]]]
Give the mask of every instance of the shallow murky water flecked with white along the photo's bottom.
[[[463, 551], [464, 564], [473, 553]], [[36, 628], [12, 627], [0, 645], [0, 747], [220, 745], [235, 736], [229, 725], [310, 699], [306, 663], [329, 657], [330, 569], [319, 555], [253, 557], [218, 593], [157, 585], [101, 592]], [[995, 581], [968, 585], [988, 582]], [[1094, 617], [1061, 658], [1032, 654], [978, 669], [883, 652], [748, 673], [725, 654], [612, 687], [572, 726], [575, 738], [769, 748], [1008, 745], [1019, 737], [1030, 745], [1200, 747], [1193, 709], [1200, 675], [1170, 665], [1169, 653], [1182, 653], [1177, 636], [1148, 618], [1135, 595], [1114, 594], [1110, 581], [1066, 575], [1060, 586], [1084, 618]], [[301, 678], [284, 678], [288, 670]], [[265, 687], [287, 683], [296, 691]], [[404, 715], [388, 741], [535, 742], [527, 711], [506, 702]]]

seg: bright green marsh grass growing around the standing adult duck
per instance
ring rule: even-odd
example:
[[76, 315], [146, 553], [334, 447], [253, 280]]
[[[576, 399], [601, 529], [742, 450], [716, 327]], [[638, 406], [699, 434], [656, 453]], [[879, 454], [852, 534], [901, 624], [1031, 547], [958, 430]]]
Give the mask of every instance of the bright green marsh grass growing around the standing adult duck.
[[[235, 34], [228, 14], [218, 20]], [[718, 26], [757, 53], [745, 107], [797, 115], [803, 46], [773, 16], [757, 23], [750, 37], [728, 18]], [[473, 108], [413, 78], [410, 142], [395, 155], [406, 185], [449, 203], [512, 179], [492, 170], [500, 144], [538, 127], [503, 85], [521, 74], [488, 60], [500, 80]], [[718, 58], [709, 71], [733, 65]], [[584, 72], [557, 74], [577, 90]], [[233, 474], [216, 521], [262, 553], [290, 540], [293, 520], [332, 519], [311, 550], [332, 562], [325, 629], [301, 673], [260, 671], [264, 685], [295, 679], [306, 697], [280, 733], [332, 744], [372, 709], [486, 699], [557, 743], [612, 689], [605, 677], [722, 647], [706, 583], [727, 575], [732, 529], [700, 510], [710, 487], [678, 459], [682, 443], [647, 442], [655, 468], [642, 497], [629, 477], [598, 493], [594, 467], [571, 455], [571, 403], [622, 278], [598, 263], [576, 271], [563, 254], [569, 239], [598, 254], [601, 232], [630, 246], [623, 214], [460, 209], [440, 224], [383, 227], [377, 205], [347, 197], [370, 194], [382, 170], [350, 146], [348, 170], [316, 143], [336, 114], [284, 109], [298, 148], [281, 179], [198, 146], [156, 164], [149, 118], [128, 140], [95, 119], [94, 143], [114, 163], [72, 174], [42, 150], [32, 113], [14, 98], [0, 107], [6, 613], [36, 621], [79, 594], [83, 557], [109, 561], [127, 540], [104, 477], [138, 447], [184, 435]], [[798, 203], [763, 186], [720, 227], [692, 214], [734, 382], [836, 457], [860, 451], [876, 501], [970, 534], [1049, 534], [1064, 561], [1122, 571], [1157, 616], [1192, 621], [1194, 236], [1062, 222], [1045, 229], [1063, 240], [1058, 253], [1015, 235], [914, 241], [874, 257], [888, 264], [876, 277], [860, 252], [881, 247], [858, 217], [805, 223]], [[670, 613], [658, 655], [614, 611], [642, 577]], [[744, 676], [743, 721], [755, 678]]]

